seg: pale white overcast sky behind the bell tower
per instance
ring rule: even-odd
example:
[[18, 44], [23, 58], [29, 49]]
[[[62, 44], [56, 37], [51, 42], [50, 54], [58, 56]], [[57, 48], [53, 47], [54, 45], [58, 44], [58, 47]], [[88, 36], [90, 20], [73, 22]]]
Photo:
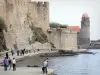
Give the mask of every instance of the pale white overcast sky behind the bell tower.
[[100, 0], [49, 0], [49, 2], [50, 22], [81, 27], [81, 17], [84, 13], [88, 13], [90, 38], [91, 40], [100, 39]]

